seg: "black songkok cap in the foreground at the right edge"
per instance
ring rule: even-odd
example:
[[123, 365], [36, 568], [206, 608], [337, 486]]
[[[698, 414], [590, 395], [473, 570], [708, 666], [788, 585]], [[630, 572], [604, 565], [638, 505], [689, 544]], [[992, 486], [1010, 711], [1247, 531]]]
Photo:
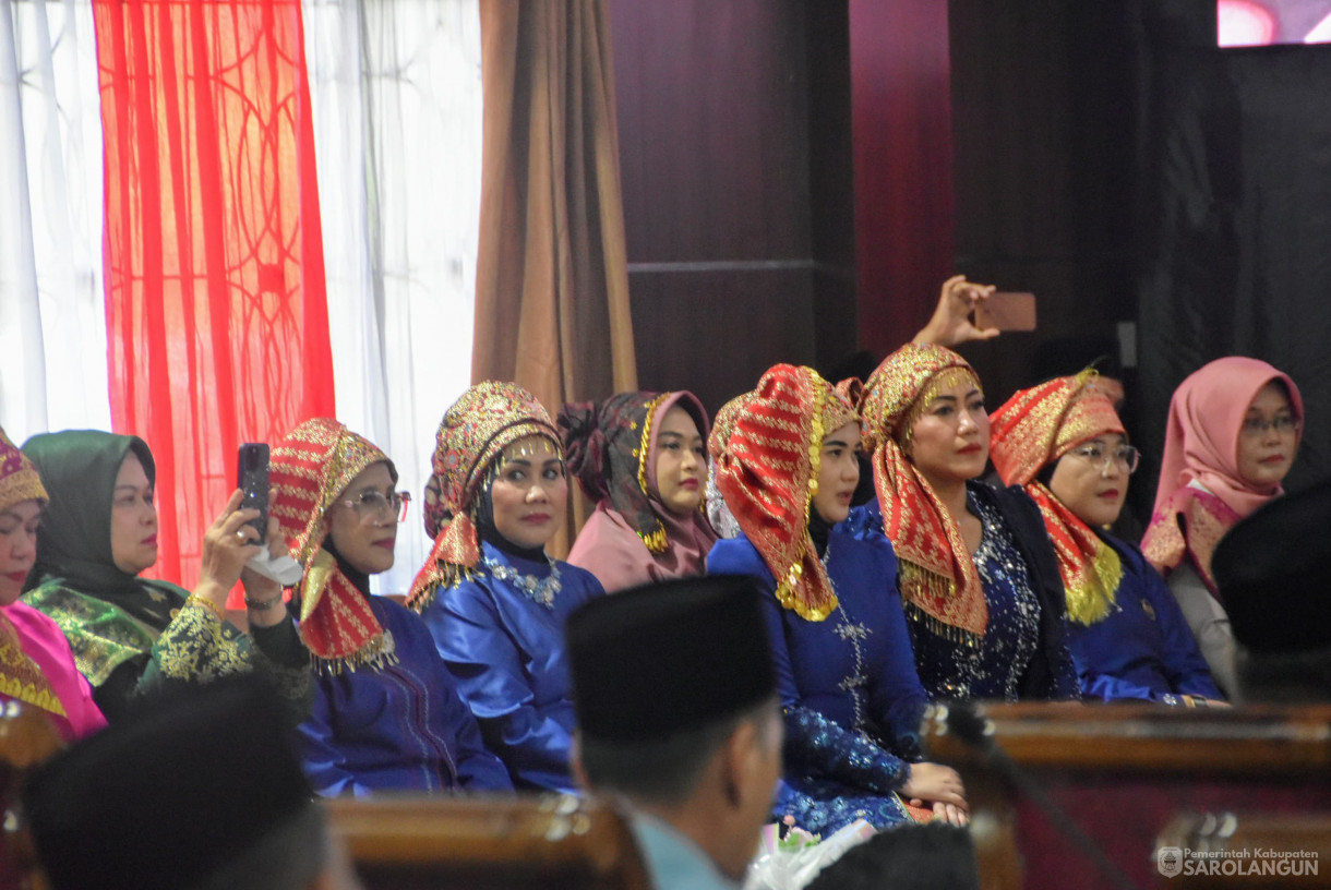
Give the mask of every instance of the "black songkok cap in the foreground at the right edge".
[[1331, 483], [1264, 504], [1211, 557], [1234, 639], [1252, 653], [1331, 648]]

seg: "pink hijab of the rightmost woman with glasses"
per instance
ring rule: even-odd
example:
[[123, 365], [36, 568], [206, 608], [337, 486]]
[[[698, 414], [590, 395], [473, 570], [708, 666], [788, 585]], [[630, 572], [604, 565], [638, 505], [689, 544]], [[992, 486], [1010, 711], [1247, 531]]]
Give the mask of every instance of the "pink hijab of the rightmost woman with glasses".
[[[1239, 434], [1252, 399], [1267, 383], [1284, 384], [1290, 407], [1303, 419], [1303, 398], [1288, 375], [1255, 358], [1230, 355], [1194, 371], [1174, 391], [1155, 510], [1142, 539], [1161, 571], [1191, 553], [1214, 589], [1210, 556], [1230, 525], [1272, 498], [1280, 486], [1255, 487], [1239, 474]], [[1199, 491], [1191, 483], [1203, 486]], [[1207, 495], [1210, 492], [1210, 496]]]

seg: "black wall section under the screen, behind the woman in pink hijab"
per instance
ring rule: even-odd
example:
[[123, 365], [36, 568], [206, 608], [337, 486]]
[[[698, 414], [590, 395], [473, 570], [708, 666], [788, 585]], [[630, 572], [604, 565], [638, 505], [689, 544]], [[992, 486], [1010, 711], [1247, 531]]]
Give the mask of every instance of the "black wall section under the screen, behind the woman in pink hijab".
[[1331, 476], [1331, 47], [1215, 48], [1215, 4], [1141, 4], [1149, 201], [1142, 400], [1222, 355], [1290, 374], [1307, 408], [1288, 488]]

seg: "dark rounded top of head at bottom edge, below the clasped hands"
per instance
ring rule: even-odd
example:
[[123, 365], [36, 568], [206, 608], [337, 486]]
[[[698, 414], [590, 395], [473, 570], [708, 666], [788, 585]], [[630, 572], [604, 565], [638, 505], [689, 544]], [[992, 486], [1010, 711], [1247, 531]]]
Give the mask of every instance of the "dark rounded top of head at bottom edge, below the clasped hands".
[[823, 869], [808, 890], [978, 890], [974, 841], [941, 822], [880, 831]]

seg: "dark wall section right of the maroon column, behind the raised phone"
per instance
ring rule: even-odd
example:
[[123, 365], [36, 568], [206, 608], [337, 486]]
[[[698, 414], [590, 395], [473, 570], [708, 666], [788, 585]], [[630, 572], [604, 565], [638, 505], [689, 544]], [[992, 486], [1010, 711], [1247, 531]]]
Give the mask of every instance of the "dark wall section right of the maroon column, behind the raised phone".
[[1133, 17], [1063, 0], [949, 11], [957, 270], [1037, 299], [1034, 333], [961, 350], [997, 407], [1117, 353], [1117, 322], [1137, 317]]

